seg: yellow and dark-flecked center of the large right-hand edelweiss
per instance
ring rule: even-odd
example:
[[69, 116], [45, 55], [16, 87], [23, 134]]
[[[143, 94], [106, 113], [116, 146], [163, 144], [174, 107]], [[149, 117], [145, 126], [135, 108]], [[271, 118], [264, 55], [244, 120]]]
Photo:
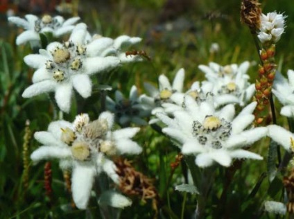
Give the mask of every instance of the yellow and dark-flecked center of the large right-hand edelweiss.
[[193, 121], [192, 134], [202, 146], [220, 149], [230, 137], [232, 123], [219, 119], [217, 116], [206, 116], [200, 121]]

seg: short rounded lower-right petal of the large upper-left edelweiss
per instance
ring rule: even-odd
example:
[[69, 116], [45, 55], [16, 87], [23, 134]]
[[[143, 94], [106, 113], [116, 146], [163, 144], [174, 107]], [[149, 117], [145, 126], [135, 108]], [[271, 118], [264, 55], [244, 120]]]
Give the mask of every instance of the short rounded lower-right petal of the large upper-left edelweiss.
[[77, 74], [75, 76], [72, 76], [72, 82], [73, 86], [78, 91], [78, 94], [80, 96], [83, 96], [83, 98], [88, 98], [91, 96], [92, 92], [92, 81], [90, 80], [89, 76], [85, 74]]

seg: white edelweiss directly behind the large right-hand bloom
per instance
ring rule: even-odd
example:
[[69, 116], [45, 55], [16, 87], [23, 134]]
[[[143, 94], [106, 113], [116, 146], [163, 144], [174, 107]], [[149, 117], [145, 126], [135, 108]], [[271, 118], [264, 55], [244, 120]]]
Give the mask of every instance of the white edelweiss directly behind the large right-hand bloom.
[[248, 61], [239, 66], [230, 64], [222, 67], [215, 62], [209, 62], [208, 66], [204, 64], [198, 66], [208, 80], [202, 84], [212, 83], [212, 94], [218, 96], [218, 105], [238, 103], [241, 106], [250, 101], [255, 91], [254, 84], [248, 82], [250, 78], [247, 74], [249, 67]]

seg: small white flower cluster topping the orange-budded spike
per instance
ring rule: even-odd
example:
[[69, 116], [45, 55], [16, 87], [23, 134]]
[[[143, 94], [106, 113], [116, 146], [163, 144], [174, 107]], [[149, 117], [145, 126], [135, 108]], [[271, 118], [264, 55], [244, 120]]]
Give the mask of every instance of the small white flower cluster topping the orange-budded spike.
[[260, 32], [257, 35], [262, 44], [276, 43], [285, 30], [286, 15], [270, 12], [267, 15], [261, 14]]

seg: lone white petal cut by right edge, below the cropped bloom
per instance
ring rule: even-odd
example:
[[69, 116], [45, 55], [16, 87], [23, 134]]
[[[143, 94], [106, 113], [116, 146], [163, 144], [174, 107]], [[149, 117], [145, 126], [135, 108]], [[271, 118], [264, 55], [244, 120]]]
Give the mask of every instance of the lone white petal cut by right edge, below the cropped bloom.
[[268, 125], [268, 137], [279, 143], [286, 150], [291, 150], [291, 141], [294, 140], [293, 134], [278, 125]]

